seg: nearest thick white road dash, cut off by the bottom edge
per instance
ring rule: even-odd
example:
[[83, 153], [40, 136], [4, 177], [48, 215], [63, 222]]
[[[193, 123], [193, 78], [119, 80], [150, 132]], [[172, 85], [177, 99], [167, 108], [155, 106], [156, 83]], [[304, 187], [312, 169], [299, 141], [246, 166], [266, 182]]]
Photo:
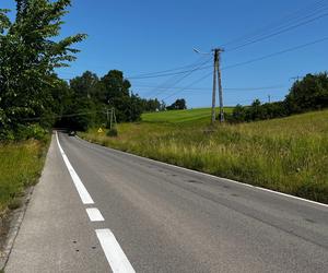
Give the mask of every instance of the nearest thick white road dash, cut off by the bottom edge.
[[113, 272], [136, 272], [114, 234], [108, 228], [96, 229], [95, 232]]

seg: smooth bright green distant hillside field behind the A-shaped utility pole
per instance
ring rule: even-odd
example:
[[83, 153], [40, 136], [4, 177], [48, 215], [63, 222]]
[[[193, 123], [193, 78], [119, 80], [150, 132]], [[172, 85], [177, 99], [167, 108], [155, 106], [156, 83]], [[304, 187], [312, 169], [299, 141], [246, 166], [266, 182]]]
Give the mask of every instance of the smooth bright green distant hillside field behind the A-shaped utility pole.
[[[225, 112], [232, 112], [233, 107], [224, 107]], [[219, 108], [216, 108], [219, 114]], [[142, 121], [184, 123], [189, 121], [210, 120], [211, 108], [195, 108], [188, 110], [171, 110], [142, 115]]]

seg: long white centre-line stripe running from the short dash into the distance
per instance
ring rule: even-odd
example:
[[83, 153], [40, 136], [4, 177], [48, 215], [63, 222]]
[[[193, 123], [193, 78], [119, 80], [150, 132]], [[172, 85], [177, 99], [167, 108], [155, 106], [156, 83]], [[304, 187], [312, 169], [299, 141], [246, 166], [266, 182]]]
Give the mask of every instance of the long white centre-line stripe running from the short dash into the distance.
[[78, 176], [77, 171], [74, 170], [74, 168], [72, 167], [71, 163], [69, 162], [68, 157], [66, 156], [60, 143], [59, 143], [59, 140], [58, 140], [58, 133], [56, 131], [56, 139], [57, 139], [57, 144], [58, 144], [58, 147], [59, 147], [59, 151], [60, 151], [60, 154], [62, 156], [62, 159], [72, 177], [72, 180], [73, 180], [73, 183], [80, 194], [80, 198], [82, 200], [82, 203], [83, 204], [94, 204], [91, 195], [89, 194], [87, 190], [85, 189], [84, 185], [82, 183], [80, 177]]

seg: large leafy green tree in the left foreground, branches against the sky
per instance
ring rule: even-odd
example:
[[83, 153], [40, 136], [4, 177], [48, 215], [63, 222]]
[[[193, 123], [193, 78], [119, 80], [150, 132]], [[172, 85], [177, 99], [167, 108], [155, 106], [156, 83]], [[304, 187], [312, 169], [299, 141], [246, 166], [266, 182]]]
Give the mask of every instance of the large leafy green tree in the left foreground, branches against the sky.
[[79, 51], [71, 46], [85, 38], [78, 34], [55, 39], [70, 0], [16, 0], [10, 22], [0, 11], [0, 128], [15, 130], [49, 115], [51, 90], [61, 84], [54, 69], [68, 67]]

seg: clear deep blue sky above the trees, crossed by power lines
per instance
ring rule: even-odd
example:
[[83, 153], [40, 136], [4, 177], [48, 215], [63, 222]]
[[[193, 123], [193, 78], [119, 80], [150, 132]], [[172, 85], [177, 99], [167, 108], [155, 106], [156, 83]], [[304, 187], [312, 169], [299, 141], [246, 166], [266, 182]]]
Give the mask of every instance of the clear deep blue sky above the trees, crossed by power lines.
[[[0, 8], [12, 9], [14, 2], [1, 0]], [[102, 76], [118, 69], [132, 78], [201, 63], [210, 56], [199, 56], [192, 48], [209, 51], [261, 28], [270, 34], [273, 26], [288, 19], [295, 19], [297, 24], [326, 13], [328, 0], [73, 0], [62, 36], [86, 33], [89, 38], [78, 46], [82, 50], [78, 60], [58, 73], [71, 79], [91, 70]], [[323, 16], [237, 50], [231, 50], [236, 44], [226, 45], [222, 68], [328, 37], [327, 28], [328, 16]], [[268, 95], [271, 100], [283, 98], [292, 84], [290, 78], [327, 70], [327, 48], [325, 40], [247, 66], [223, 69], [224, 104], [249, 104], [254, 98], [267, 102]], [[209, 68], [183, 80], [184, 74], [174, 79], [131, 79], [131, 90], [142, 97], [166, 98], [167, 103], [185, 97], [189, 107], [210, 106], [212, 76], [198, 82], [211, 73], [210, 64], [211, 61], [204, 64]], [[179, 82], [174, 85], [175, 81]], [[271, 88], [256, 90], [260, 87]]]

